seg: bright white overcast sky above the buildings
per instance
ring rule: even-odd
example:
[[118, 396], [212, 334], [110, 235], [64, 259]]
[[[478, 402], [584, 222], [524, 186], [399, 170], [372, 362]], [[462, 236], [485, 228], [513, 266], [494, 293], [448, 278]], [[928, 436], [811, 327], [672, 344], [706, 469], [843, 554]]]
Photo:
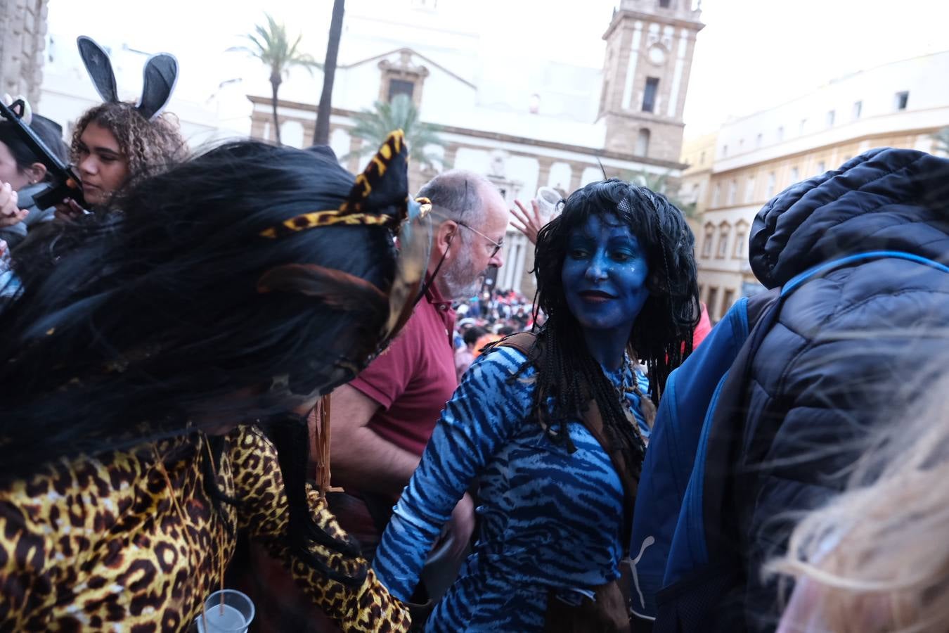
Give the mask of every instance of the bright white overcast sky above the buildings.
[[[371, 14], [380, 2], [348, 0]], [[601, 39], [619, 0], [439, 0], [481, 33], [491, 53], [599, 66]], [[148, 7], [160, 8], [148, 10]], [[184, 69], [226, 64], [227, 47], [264, 10], [302, 30], [322, 58], [331, 0], [50, 0], [51, 33], [84, 32], [143, 50], [172, 50]], [[949, 49], [946, 0], [704, 0], [688, 98], [686, 135], [791, 100], [847, 73]], [[191, 84], [201, 73], [189, 72]], [[216, 76], [216, 75], [215, 75]], [[949, 78], [934, 77], [946, 82]], [[214, 86], [209, 86], [209, 94]]]

